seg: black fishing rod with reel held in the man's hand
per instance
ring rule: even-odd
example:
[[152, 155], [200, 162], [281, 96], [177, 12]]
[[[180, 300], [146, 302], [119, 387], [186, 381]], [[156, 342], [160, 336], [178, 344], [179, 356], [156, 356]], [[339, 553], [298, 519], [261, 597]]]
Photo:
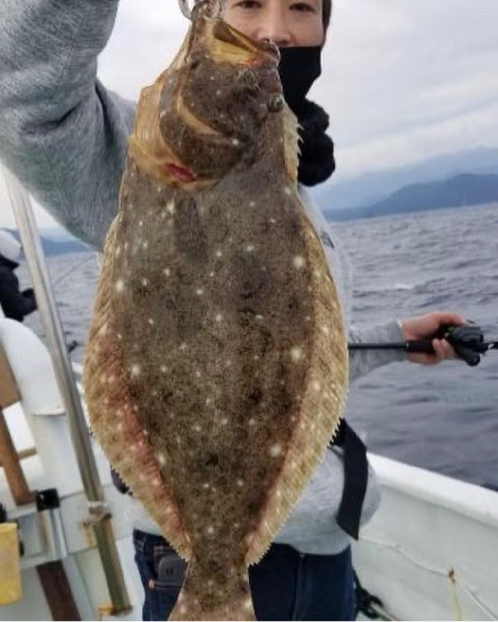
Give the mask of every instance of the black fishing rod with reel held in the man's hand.
[[463, 326], [443, 324], [431, 339], [402, 341], [400, 343], [349, 343], [349, 350], [405, 350], [434, 354], [432, 339], [446, 339], [453, 346], [456, 355], [467, 365], [475, 367], [481, 361], [481, 355], [490, 350], [498, 350], [498, 341], [484, 341], [481, 327], [474, 323]]

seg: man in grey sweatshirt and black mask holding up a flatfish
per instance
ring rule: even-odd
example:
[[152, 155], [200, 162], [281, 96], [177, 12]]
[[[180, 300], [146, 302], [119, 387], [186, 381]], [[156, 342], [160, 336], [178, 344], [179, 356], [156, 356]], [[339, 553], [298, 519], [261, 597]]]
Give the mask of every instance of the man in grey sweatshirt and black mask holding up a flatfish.
[[[65, 228], [95, 248], [101, 248], [116, 214], [134, 118], [134, 103], [96, 80], [96, 57], [110, 36], [117, 6], [118, 0], [0, 0], [6, 16], [0, 26], [0, 157]], [[306, 100], [319, 75], [330, 14], [330, 0], [228, 0], [223, 17], [249, 37], [271, 40], [281, 49], [284, 96], [303, 127], [300, 190], [348, 321], [351, 287], [344, 253], [303, 188], [326, 180], [334, 169], [327, 114]], [[422, 339], [443, 323], [464, 322], [456, 313], [428, 313], [350, 330], [349, 340]], [[435, 364], [455, 356], [447, 341], [433, 345], [434, 355], [410, 355], [410, 360]], [[355, 351], [350, 379], [405, 356]], [[359, 443], [355, 447], [361, 449]], [[251, 567], [259, 620], [354, 619], [348, 534], [355, 536], [372, 516], [378, 489], [371, 472], [367, 480], [366, 466], [359, 486], [366, 490], [345, 487], [350, 470], [344, 469], [344, 455], [351, 454], [341, 447], [327, 452], [276, 544]], [[342, 512], [343, 491], [356, 511]], [[146, 516], [136, 526], [136, 561], [146, 590], [144, 619], [164, 620], [176, 601], [184, 564]]]

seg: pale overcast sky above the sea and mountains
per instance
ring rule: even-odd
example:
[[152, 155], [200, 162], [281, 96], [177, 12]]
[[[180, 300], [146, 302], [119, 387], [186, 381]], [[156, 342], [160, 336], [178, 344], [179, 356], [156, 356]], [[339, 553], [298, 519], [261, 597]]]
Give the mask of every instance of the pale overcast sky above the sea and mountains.
[[[331, 116], [336, 179], [497, 147], [497, 25], [498, 0], [334, 0], [311, 95]], [[136, 99], [186, 28], [176, 0], [121, 0], [101, 80]]]

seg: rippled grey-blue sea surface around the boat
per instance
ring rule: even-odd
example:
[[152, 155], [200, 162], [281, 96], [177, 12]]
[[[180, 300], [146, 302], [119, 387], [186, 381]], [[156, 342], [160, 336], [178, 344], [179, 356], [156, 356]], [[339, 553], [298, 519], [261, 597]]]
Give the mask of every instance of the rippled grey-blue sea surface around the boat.
[[[354, 270], [358, 327], [458, 312], [498, 339], [498, 205], [331, 223]], [[47, 259], [72, 358], [82, 361], [95, 255]], [[29, 277], [19, 270], [26, 286]], [[26, 320], [43, 335], [39, 313]], [[392, 363], [350, 388], [347, 416], [372, 452], [498, 490], [498, 351], [476, 368]]]

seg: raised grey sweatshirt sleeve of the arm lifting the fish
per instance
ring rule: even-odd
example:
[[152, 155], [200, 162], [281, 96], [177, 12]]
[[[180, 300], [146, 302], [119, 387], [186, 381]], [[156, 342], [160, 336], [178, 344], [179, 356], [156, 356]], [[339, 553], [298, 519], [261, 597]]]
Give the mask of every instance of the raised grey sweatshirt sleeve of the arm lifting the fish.
[[134, 103], [96, 79], [118, 0], [0, 0], [0, 159], [65, 228], [101, 248]]

